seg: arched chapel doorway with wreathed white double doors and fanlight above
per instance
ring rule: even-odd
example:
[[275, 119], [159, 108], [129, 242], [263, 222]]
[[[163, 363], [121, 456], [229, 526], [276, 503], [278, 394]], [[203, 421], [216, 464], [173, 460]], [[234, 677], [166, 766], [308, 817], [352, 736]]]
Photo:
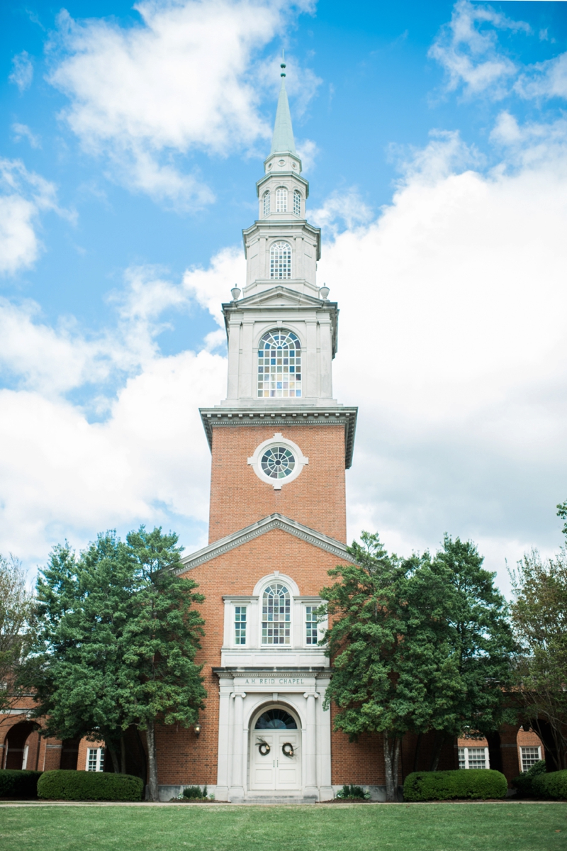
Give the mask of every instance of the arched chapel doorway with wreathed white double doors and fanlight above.
[[252, 717], [251, 791], [301, 789], [301, 723], [285, 705], [268, 705]]

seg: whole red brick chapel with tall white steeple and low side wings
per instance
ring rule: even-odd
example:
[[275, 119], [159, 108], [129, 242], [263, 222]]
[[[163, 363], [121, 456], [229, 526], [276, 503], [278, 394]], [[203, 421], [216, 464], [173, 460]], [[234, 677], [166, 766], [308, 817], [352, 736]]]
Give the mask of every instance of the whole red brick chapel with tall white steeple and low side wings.
[[[285, 66], [282, 66], [285, 67]], [[325, 801], [344, 784], [384, 798], [383, 740], [333, 732], [324, 709], [330, 660], [320, 590], [346, 548], [345, 470], [357, 408], [332, 395], [338, 307], [316, 280], [320, 230], [306, 218], [285, 75], [258, 220], [243, 231], [247, 277], [223, 305], [226, 399], [201, 408], [211, 449], [209, 543], [179, 574], [205, 596], [197, 657], [207, 688], [199, 724], [156, 728], [163, 801], [207, 785], [219, 801]], [[0, 713], [0, 770], [111, 770], [104, 742], [45, 739], [32, 694]], [[127, 772], [145, 778], [145, 743], [126, 734]], [[427, 770], [434, 733], [408, 734], [400, 782]], [[504, 725], [490, 740], [447, 742], [439, 768], [499, 768], [508, 781], [543, 756], [531, 730]]]

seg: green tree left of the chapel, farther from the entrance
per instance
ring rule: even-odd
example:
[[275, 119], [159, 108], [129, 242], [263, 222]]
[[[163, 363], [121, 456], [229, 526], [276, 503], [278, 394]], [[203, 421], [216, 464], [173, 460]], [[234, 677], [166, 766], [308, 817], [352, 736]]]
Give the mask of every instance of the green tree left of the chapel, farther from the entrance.
[[115, 771], [124, 770], [117, 756], [126, 726], [118, 683], [136, 591], [133, 561], [115, 533], [99, 534], [80, 557], [69, 545], [56, 546], [38, 575], [41, 629], [22, 676], [36, 693], [33, 714], [45, 719], [43, 734], [105, 740]]

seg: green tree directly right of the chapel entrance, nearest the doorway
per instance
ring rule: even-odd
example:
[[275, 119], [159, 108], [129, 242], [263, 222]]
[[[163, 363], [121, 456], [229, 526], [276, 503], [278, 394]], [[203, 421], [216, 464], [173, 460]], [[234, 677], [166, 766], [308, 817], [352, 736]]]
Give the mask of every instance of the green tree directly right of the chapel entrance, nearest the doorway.
[[349, 738], [382, 733], [386, 797], [398, 789], [400, 743], [434, 719], [452, 719], [462, 687], [447, 628], [445, 583], [428, 557], [389, 556], [376, 534], [362, 534], [349, 554], [355, 565], [330, 571], [337, 582], [320, 591], [331, 617], [325, 640], [333, 676], [326, 705]]

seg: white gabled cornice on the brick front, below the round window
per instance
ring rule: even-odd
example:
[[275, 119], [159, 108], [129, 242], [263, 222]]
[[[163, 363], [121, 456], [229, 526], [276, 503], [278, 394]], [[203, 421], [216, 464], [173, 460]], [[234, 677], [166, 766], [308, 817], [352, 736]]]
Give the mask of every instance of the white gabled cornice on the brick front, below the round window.
[[251, 526], [246, 526], [238, 532], [233, 532], [233, 534], [226, 535], [224, 538], [214, 541], [213, 544], [203, 547], [202, 550], [194, 552], [191, 556], [185, 556], [182, 559], [183, 568], [179, 568], [177, 573], [183, 574], [187, 570], [196, 568], [199, 564], [210, 562], [213, 558], [222, 556], [225, 552], [234, 550], [235, 547], [246, 544], [247, 541], [258, 538], [261, 534], [271, 532], [272, 529], [282, 529], [284, 532], [292, 534], [296, 538], [306, 541], [308, 544], [319, 547], [320, 550], [330, 552], [333, 556], [354, 564], [354, 560], [347, 552], [346, 544], [343, 544], [340, 540], [330, 538], [321, 532], [315, 532], [315, 529], [309, 528], [309, 526], [303, 526], [303, 523], [290, 520], [289, 517], [284, 517], [282, 514], [270, 514], [269, 517], [258, 520], [258, 523], [252, 523]]

